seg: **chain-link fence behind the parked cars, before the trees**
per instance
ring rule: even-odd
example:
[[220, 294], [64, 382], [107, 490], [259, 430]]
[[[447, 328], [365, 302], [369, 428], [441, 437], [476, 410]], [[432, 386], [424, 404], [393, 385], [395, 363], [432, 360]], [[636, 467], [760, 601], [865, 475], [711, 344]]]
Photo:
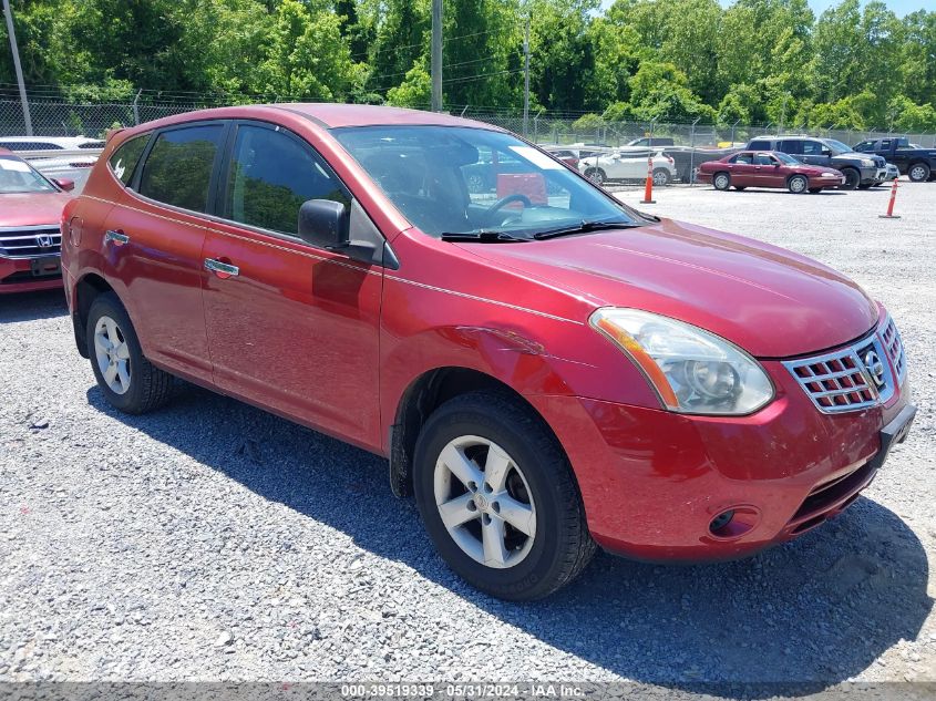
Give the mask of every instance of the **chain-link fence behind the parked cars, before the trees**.
[[[232, 100], [232, 104], [236, 104]], [[64, 101], [29, 102], [33, 133], [39, 136], [103, 136], [113, 126], [127, 126], [148, 122], [172, 114], [179, 114], [206, 106], [218, 106], [216, 100], [208, 102], [125, 102], [74, 104]], [[672, 138], [679, 146], [730, 146], [742, 145], [762, 134], [803, 133], [811, 136], [836, 138], [854, 145], [867, 138], [885, 137], [893, 134], [886, 131], [804, 128], [776, 124], [730, 125], [678, 124], [664, 122], [605, 122], [599, 118], [556, 117], [548, 114], [532, 114], [526, 120], [521, 116], [495, 114], [479, 110], [452, 110], [453, 114], [495, 124], [512, 132], [524, 134], [544, 144], [595, 144], [609, 147], [626, 145], [628, 142], [654, 136]], [[25, 134], [22, 106], [19, 100], [0, 99], [0, 135], [20, 136]], [[901, 134], [909, 141], [925, 147], [936, 147], [936, 134]]]

